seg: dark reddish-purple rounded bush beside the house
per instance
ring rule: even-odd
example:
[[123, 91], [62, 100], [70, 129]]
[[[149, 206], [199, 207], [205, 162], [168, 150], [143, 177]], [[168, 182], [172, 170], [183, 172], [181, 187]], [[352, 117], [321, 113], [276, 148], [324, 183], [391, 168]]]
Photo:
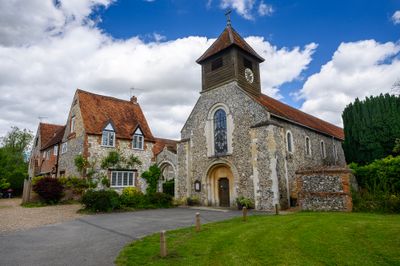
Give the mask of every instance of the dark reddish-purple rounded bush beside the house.
[[33, 185], [35, 191], [46, 203], [57, 203], [63, 197], [64, 187], [60, 180], [51, 177], [43, 177]]

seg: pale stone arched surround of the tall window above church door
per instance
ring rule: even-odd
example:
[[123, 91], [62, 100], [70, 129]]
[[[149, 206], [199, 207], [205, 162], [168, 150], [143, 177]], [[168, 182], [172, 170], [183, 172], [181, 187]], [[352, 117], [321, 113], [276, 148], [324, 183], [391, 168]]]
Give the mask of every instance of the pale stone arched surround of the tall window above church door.
[[214, 141], [214, 115], [218, 110], [224, 110], [226, 114], [226, 141], [227, 141], [227, 152], [224, 154], [230, 155], [233, 153], [232, 147], [232, 138], [233, 138], [233, 117], [232, 113], [230, 112], [228, 106], [224, 103], [216, 103], [214, 104], [210, 110], [208, 111], [207, 120], [206, 120], [206, 127], [205, 127], [205, 135], [207, 141], [207, 156], [208, 157], [215, 157], [215, 141]]

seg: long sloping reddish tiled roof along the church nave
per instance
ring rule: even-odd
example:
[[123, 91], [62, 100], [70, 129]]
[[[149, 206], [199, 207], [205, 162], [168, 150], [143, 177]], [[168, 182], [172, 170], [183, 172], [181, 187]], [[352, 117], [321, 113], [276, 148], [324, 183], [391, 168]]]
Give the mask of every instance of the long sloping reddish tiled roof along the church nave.
[[256, 98], [262, 105], [264, 105], [272, 114], [286, 118], [295, 123], [309, 127], [316, 131], [333, 136], [337, 139], [344, 140], [343, 129], [332, 125], [324, 120], [316, 118], [315, 116], [304, 113], [296, 108], [286, 105], [278, 100], [261, 94]]

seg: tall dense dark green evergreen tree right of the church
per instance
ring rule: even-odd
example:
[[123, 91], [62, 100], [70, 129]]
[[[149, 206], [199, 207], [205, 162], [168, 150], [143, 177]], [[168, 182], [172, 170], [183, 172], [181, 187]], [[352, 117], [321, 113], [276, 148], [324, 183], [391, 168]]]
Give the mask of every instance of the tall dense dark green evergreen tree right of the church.
[[348, 162], [367, 164], [393, 154], [400, 136], [400, 97], [379, 95], [358, 98], [342, 114]]

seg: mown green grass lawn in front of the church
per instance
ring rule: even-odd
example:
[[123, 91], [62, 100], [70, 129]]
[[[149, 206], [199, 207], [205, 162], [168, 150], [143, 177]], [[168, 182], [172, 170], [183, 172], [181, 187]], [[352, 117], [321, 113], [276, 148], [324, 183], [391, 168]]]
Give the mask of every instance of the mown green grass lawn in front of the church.
[[117, 265], [400, 265], [400, 215], [252, 216], [167, 232], [126, 246]]

